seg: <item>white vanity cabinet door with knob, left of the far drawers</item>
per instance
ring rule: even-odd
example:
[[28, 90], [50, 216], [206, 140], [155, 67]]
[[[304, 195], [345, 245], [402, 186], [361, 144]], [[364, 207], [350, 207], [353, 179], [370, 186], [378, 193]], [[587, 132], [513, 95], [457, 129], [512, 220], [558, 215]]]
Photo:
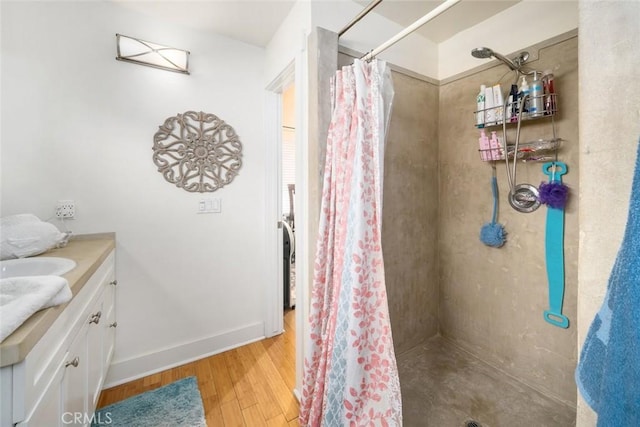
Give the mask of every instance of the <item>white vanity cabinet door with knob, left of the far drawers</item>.
[[[65, 423], [65, 425], [86, 425], [87, 417], [87, 332], [88, 322], [82, 326], [78, 335], [69, 347], [67, 359], [64, 363], [64, 376], [62, 377], [62, 413], [63, 416], [73, 417], [78, 422]], [[72, 414], [72, 415], [69, 415]]]

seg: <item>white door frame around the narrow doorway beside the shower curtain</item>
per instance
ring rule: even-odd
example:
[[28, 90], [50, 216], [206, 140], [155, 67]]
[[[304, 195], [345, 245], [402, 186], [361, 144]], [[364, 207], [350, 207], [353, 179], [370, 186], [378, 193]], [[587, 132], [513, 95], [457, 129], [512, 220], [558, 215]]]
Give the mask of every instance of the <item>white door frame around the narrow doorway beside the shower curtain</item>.
[[308, 150], [307, 150], [307, 76], [306, 49], [297, 52], [295, 58], [266, 86], [266, 246], [265, 259], [268, 295], [265, 317], [265, 335], [271, 337], [283, 332], [284, 309], [282, 295], [282, 92], [290, 84], [295, 85], [295, 144], [296, 144], [296, 388], [294, 394], [300, 399], [304, 366], [304, 342], [308, 316], [308, 271], [309, 248], [307, 223], [309, 221], [308, 200]]

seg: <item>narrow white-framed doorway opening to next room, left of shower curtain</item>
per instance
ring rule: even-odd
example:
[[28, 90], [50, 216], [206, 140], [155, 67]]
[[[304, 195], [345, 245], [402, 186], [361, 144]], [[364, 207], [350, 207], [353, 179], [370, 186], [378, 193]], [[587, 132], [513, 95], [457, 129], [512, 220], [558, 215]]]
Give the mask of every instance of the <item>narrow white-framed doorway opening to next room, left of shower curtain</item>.
[[[306, 147], [306, 64], [304, 52], [299, 52], [283, 71], [266, 87], [267, 158], [266, 203], [267, 234], [265, 260], [269, 286], [266, 289], [265, 336], [294, 332], [295, 347], [294, 394], [300, 398], [304, 365], [304, 317], [307, 312], [309, 249], [308, 226], [308, 150]], [[283, 157], [286, 157], [283, 158]], [[290, 161], [288, 159], [295, 159]], [[285, 170], [286, 169], [286, 170]], [[293, 178], [292, 178], [293, 177]], [[293, 186], [289, 187], [292, 183]], [[277, 226], [276, 226], [277, 224]], [[287, 224], [287, 225], [285, 225]], [[284, 298], [284, 227], [291, 227], [293, 257], [289, 271], [291, 292], [288, 309]], [[291, 255], [291, 254], [289, 254]], [[293, 309], [295, 307], [295, 309]]]

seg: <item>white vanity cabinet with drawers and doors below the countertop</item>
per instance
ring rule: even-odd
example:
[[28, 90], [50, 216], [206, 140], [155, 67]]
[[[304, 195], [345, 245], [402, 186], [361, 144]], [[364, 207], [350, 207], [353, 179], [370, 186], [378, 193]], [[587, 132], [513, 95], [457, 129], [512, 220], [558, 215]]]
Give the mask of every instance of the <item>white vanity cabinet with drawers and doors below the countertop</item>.
[[12, 424], [91, 425], [115, 341], [114, 260], [111, 251], [24, 360], [2, 368], [12, 370]]

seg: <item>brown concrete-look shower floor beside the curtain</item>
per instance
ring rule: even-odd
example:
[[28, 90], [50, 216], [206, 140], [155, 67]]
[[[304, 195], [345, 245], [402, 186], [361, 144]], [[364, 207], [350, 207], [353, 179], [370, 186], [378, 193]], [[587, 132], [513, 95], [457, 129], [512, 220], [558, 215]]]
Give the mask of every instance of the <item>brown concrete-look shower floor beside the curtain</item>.
[[508, 377], [442, 337], [398, 355], [405, 427], [575, 426], [574, 408]]

